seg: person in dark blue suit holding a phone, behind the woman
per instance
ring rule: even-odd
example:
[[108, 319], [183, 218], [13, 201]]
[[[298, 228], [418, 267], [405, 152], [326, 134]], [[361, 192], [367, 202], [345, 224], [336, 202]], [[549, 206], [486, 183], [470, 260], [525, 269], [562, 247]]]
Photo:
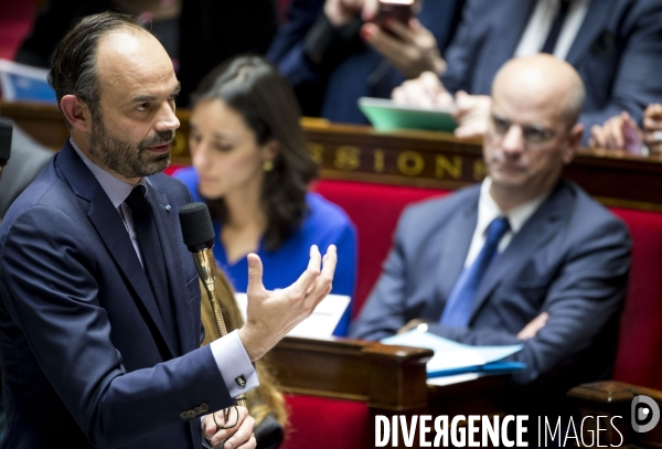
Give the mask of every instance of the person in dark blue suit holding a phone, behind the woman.
[[463, 3], [424, 0], [408, 23], [377, 24], [377, 0], [292, 0], [267, 58], [295, 87], [303, 115], [366, 124], [360, 97], [388, 98], [407, 78], [441, 73]]

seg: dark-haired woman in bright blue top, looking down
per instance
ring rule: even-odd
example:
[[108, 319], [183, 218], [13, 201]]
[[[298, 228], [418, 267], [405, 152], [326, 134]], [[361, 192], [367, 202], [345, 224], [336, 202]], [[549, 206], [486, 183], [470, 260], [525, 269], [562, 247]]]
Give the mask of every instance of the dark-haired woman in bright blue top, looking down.
[[[308, 192], [317, 164], [287, 82], [261, 57], [241, 56], [207, 75], [193, 98], [193, 167], [174, 177], [209, 204], [214, 255], [236, 291], [248, 285], [248, 253], [261, 258], [265, 287], [277, 289], [306, 269], [311, 245], [323, 254], [333, 244], [331, 292], [353, 296], [356, 232], [338, 205]], [[346, 335], [350, 314], [351, 303], [334, 335]]]

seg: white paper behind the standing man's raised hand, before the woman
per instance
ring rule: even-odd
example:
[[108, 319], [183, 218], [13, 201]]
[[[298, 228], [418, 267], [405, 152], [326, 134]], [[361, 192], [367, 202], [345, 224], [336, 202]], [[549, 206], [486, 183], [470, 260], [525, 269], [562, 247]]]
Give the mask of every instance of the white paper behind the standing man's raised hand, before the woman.
[[[248, 299], [246, 293], [235, 293], [237, 306], [246, 320]], [[302, 336], [307, 339], [328, 339], [350, 304], [350, 297], [344, 295], [329, 295], [322, 299], [312, 314], [292, 329], [288, 336]]]

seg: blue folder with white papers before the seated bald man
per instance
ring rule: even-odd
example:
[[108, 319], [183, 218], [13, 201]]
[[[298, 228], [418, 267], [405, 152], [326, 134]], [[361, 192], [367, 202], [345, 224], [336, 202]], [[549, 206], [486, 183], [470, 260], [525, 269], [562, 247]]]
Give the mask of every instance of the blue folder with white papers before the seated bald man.
[[506, 346], [470, 346], [413, 330], [382, 340], [383, 344], [427, 348], [435, 355], [427, 363], [428, 377], [449, 376], [461, 373], [512, 373], [526, 367], [525, 363], [503, 360], [522, 350], [521, 344]]

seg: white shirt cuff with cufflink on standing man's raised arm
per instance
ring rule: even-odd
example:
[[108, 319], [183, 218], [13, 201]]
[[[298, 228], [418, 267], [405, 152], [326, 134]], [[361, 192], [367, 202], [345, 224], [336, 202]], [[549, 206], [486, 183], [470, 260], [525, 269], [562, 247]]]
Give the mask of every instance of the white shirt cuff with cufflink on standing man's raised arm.
[[239, 333], [232, 331], [210, 344], [212, 354], [232, 397], [236, 397], [259, 385], [255, 366], [242, 344]]

